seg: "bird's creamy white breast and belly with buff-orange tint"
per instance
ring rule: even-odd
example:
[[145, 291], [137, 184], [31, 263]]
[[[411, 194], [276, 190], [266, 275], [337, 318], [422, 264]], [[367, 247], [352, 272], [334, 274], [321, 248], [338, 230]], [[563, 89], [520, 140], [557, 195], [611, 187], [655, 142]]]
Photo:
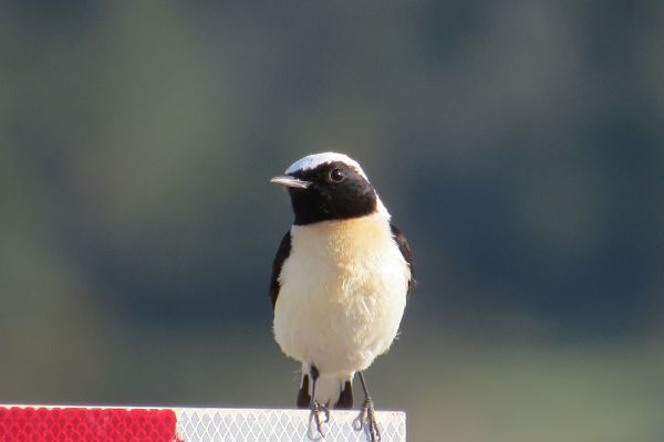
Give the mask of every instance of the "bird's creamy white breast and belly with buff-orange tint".
[[295, 225], [291, 236], [274, 338], [321, 373], [366, 369], [396, 336], [411, 276], [387, 215]]

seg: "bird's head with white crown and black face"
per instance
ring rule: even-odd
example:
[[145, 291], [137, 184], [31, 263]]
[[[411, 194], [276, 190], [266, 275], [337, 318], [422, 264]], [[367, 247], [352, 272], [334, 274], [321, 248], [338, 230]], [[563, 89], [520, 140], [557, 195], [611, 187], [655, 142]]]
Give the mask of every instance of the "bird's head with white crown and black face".
[[270, 182], [288, 189], [297, 225], [386, 213], [357, 161], [343, 154], [309, 155]]

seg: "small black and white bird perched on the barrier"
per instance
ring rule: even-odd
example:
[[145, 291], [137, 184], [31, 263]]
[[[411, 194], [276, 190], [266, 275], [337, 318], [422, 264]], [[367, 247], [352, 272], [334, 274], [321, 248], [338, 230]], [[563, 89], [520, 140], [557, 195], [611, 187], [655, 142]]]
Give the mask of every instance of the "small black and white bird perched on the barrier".
[[[394, 340], [414, 285], [406, 239], [391, 222], [360, 165], [343, 154], [307, 156], [271, 182], [284, 186], [294, 212], [272, 265], [274, 338], [302, 362], [297, 404], [321, 415], [353, 407], [359, 372], [364, 402], [355, 429], [380, 440], [362, 375]], [[312, 422], [315, 427], [312, 425]]]

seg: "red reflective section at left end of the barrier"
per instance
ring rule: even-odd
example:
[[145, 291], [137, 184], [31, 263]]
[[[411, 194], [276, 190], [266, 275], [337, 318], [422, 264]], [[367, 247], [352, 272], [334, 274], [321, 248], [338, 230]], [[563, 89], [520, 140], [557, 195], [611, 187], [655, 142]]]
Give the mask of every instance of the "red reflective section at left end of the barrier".
[[173, 410], [0, 407], [2, 442], [181, 442]]

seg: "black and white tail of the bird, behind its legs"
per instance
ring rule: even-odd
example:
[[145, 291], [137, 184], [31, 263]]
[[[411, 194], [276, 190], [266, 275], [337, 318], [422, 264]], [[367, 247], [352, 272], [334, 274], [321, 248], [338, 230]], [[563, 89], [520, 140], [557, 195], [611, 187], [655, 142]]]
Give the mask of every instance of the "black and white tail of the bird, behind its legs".
[[[329, 408], [353, 408], [352, 380], [353, 373], [350, 376], [320, 373], [315, 380], [315, 401]], [[298, 408], [309, 408], [311, 406], [313, 378], [311, 372], [303, 372], [300, 391], [298, 392]]]

